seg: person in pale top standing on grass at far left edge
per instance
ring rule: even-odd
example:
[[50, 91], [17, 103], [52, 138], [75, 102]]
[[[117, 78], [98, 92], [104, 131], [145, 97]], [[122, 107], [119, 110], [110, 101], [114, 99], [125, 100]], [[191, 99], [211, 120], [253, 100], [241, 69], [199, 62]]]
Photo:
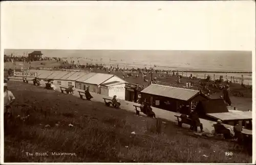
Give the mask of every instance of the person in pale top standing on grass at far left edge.
[[15, 100], [14, 95], [7, 87], [7, 80], [4, 80], [4, 116], [10, 117], [12, 115], [11, 104]]

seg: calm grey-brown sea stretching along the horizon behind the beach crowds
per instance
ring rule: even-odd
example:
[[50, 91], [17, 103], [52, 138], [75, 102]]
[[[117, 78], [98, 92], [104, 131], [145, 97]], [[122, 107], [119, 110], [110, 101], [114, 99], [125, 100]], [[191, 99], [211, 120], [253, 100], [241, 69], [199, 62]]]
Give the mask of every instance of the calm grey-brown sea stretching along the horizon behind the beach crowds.
[[[184, 76], [203, 78], [210, 75], [212, 79], [231, 80], [231, 76], [241, 82], [252, 84], [252, 52], [223, 50], [49, 50], [49, 49], [5, 49], [5, 54], [27, 56], [37, 50], [43, 57], [67, 58], [79, 64], [105, 64], [106, 67], [150, 68], [179, 70]], [[183, 71], [183, 73], [182, 73]], [[191, 72], [197, 71], [197, 72]], [[210, 73], [208, 73], [210, 72]], [[223, 73], [220, 73], [223, 72]], [[225, 73], [226, 72], [226, 73]], [[237, 72], [237, 73], [228, 73]], [[247, 73], [238, 73], [247, 72]]]

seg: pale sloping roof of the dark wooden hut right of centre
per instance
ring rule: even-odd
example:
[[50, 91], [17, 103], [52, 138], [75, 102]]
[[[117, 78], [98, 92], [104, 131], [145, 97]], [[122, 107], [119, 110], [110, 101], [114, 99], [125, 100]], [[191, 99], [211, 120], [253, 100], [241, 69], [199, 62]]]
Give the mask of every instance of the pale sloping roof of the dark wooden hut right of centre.
[[150, 86], [142, 90], [141, 93], [187, 101], [197, 95], [199, 91], [151, 84]]

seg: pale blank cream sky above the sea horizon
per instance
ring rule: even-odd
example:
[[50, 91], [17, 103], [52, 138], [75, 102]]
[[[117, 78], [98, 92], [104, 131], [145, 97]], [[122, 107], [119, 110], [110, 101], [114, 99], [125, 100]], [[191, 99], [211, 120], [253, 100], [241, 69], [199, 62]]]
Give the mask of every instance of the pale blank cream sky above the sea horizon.
[[2, 2], [2, 48], [253, 50], [255, 2]]

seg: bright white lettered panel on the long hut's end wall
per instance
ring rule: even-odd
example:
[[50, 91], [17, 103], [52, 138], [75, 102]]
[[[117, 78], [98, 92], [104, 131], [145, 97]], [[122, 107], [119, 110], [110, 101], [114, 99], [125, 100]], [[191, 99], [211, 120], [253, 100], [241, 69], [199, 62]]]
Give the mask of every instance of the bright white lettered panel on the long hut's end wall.
[[125, 100], [125, 84], [109, 87], [109, 96], [113, 97], [116, 95], [117, 99]]

